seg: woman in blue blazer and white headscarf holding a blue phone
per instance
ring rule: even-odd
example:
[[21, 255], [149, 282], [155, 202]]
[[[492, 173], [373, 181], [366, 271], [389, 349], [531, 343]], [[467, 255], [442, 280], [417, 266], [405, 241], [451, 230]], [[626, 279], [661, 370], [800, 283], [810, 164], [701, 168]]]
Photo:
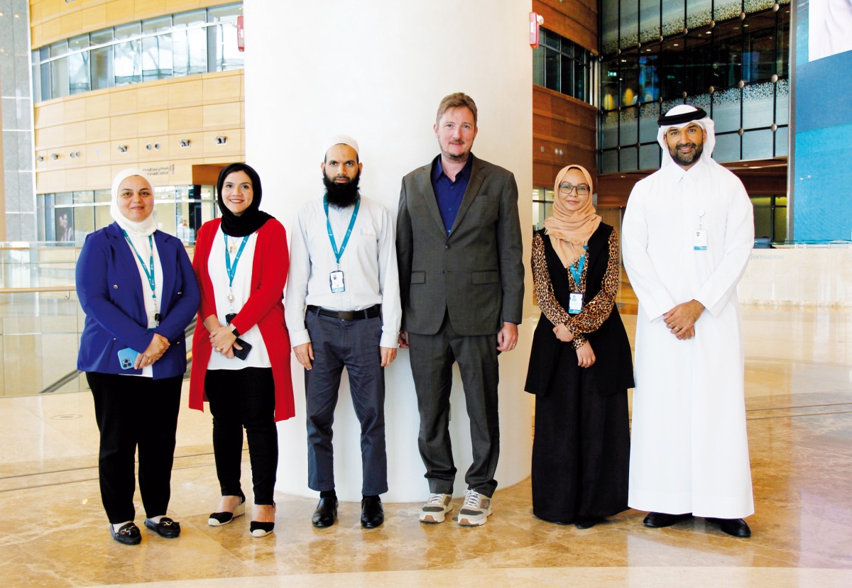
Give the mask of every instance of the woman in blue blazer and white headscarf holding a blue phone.
[[151, 182], [125, 169], [112, 182], [112, 225], [86, 237], [77, 294], [86, 314], [77, 368], [86, 373], [101, 431], [101, 500], [110, 534], [136, 545], [134, 455], [145, 526], [181, 533], [169, 506], [181, 384], [183, 331], [199, 308], [193, 265], [176, 237], [157, 231]]

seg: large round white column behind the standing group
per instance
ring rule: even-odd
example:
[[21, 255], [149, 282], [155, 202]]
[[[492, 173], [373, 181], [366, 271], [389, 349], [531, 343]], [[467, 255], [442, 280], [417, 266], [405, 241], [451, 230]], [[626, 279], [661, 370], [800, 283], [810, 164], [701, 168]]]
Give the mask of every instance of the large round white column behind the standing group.
[[[361, 193], [396, 216], [400, 180], [438, 153], [432, 129], [440, 99], [462, 91], [479, 108], [474, 152], [515, 173], [521, 193], [525, 262], [532, 236], [533, 55], [529, 0], [430, 2], [245, 2], [246, 160], [261, 174], [263, 208], [290, 233], [296, 209], [321, 197], [325, 140], [350, 134], [364, 163]], [[533, 314], [521, 341], [500, 357], [501, 488], [529, 475], [532, 400], [523, 391]], [[302, 368], [292, 360], [296, 417], [279, 423], [279, 491], [308, 489]], [[419, 418], [408, 352], [385, 370], [389, 492], [386, 501], [428, 494], [417, 453]], [[458, 368], [452, 393], [452, 441], [463, 493], [470, 459], [469, 421]], [[343, 374], [334, 425], [335, 477], [341, 500], [360, 500], [358, 421]]]

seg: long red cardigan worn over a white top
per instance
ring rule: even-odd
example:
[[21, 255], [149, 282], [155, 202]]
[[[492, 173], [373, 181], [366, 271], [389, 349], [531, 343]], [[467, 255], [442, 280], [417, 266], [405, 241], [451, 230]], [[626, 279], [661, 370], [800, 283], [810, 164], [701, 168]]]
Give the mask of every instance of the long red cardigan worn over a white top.
[[[204, 318], [216, 313], [213, 283], [207, 271], [210, 248], [222, 219], [204, 223], [195, 243], [193, 268], [201, 290], [199, 323], [193, 335], [193, 368], [189, 379], [189, 408], [204, 410], [204, 376], [210, 363], [210, 334], [204, 328]], [[275, 382], [275, 420], [285, 420], [296, 414], [293, 403], [293, 382], [290, 372], [290, 334], [284, 322], [284, 285], [290, 257], [287, 254], [287, 234], [278, 220], [268, 220], [257, 231], [255, 258], [251, 265], [251, 291], [242, 310], [231, 324], [240, 333], [257, 325], [272, 363]]]

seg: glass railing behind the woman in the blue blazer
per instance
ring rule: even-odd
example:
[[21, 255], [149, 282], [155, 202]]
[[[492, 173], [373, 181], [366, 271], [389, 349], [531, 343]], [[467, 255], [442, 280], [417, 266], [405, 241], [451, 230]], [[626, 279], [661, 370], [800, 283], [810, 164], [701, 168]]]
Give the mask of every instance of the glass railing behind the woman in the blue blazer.
[[0, 397], [88, 389], [77, 371], [85, 320], [74, 286], [80, 248], [51, 245], [0, 244]]

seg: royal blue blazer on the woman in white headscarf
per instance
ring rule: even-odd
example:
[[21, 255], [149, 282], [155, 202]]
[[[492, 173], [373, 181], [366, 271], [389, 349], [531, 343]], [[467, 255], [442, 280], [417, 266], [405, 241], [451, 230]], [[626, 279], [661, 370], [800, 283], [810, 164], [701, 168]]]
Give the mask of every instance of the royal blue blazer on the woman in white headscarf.
[[187, 344], [183, 330], [199, 310], [201, 300], [193, 265], [180, 239], [155, 231], [159, 263], [163, 265], [163, 294], [158, 300], [160, 323], [148, 332], [142, 280], [133, 251], [118, 223], [86, 237], [77, 262], [77, 296], [86, 322], [80, 338], [77, 368], [103, 374], [141, 374], [141, 369], [122, 369], [118, 351], [130, 347], [145, 351], [153, 333], [170, 342], [169, 349], [153, 364], [154, 380], [187, 371]]

